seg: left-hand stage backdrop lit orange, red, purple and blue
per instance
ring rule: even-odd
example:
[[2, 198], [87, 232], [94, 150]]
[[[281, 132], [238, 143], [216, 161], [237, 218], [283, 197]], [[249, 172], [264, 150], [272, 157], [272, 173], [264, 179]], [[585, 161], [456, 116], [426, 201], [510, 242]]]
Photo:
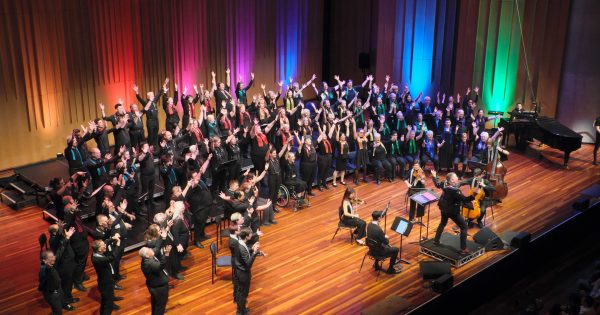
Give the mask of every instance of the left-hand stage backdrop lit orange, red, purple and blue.
[[0, 169], [62, 152], [73, 128], [100, 115], [99, 102], [109, 113], [119, 98], [134, 103], [134, 83], [145, 93], [169, 77], [169, 93], [174, 83], [190, 92], [194, 82], [210, 85], [211, 70], [224, 81], [231, 67], [232, 81], [255, 72], [254, 94], [260, 83], [276, 89], [290, 76], [320, 75], [322, 7], [319, 0], [3, 0]]

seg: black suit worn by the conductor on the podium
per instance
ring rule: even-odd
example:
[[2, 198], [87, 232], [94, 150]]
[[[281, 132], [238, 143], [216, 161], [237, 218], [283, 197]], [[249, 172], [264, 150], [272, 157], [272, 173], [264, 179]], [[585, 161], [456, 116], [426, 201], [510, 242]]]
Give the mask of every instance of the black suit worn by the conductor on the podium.
[[440, 182], [437, 177], [433, 178], [433, 183], [437, 188], [443, 190], [442, 197], [440, 197], [440, 201], [438, 201], [438, 206], [442, 212], [442, 219], [435, 232], [435, 242], [440, 241], [440, 237], [442, 236], [444, 227], [446, 227], [446, 224], [448, 223], [448, 219], [452, 219], [452, 221], [460, 228], [460, 248], [464, 250], [467, 248], [467, 223], [460, 213], [460, 208], [463, 203], [472, 201], [475, 197], [464, 196], [458, 188], [446, 186], [446, 184]]

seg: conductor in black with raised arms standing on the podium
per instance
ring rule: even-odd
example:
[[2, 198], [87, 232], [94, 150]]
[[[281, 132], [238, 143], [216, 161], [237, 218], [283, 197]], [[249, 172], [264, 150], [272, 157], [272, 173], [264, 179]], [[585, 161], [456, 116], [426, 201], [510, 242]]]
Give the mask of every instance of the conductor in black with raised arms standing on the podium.
[[475, 195], [479, 192], [479, 187], [474, 188], [474, 193], [467, 197], [463, 195], [459, 189], [460, 182], [456, 173], [448, 173], [446, 175], [446, 181], [444, 182], [440, 182], [437, 173], [434, 170], [431, 171], [431, 175], [433, 175], [435, 186], [443, 191], [440, 201], [438, 202], [438, 206], [442, 213], [442, 219], [435, 232], [433, 243], [440, 245], [440, 237], [442, 236], [444, 227], [446, 227], [448, 219], [452, 219], [452, 221], [460, 228], [460, 253], [468, 254], [470, 253], [470, 250], [467, 248], [467, 223], [460, 213], [460, 208], [462, 204], [475, 199]]

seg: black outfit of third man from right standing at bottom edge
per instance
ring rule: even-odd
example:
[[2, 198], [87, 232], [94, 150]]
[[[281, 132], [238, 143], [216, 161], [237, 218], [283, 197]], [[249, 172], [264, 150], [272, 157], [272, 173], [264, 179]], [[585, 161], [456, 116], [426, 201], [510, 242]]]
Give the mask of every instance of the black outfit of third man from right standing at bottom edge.
[[[107, 245], [107, 249], [109, 246]], [[112, 314], [115, 299], [115, 280], [113, 278], [112, 253], [107, 250], [104, 254], [93, 253], [92, 265], [98, 275], [98, 290], [100, 291], [100, 315]]]

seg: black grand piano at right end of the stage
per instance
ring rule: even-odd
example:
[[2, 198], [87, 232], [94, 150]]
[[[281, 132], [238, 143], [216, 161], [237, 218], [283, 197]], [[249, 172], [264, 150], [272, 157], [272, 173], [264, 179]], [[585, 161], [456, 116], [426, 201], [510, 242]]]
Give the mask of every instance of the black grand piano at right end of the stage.
[[[563, 151], [564, 166], [569, 163], [571, 152], [581, 148], [582, 136], [567, 126], [559, 123], [556, 119], [537, 115], [513, 116], [511, 119], [502, 118], [498, 123], [499, 127], [504, 127], [508, 132], [518, 130], [520, 138], [531, 140], [536, 138], [552, 148]], [[508, 137], [506, 137], [508, 140]]]

